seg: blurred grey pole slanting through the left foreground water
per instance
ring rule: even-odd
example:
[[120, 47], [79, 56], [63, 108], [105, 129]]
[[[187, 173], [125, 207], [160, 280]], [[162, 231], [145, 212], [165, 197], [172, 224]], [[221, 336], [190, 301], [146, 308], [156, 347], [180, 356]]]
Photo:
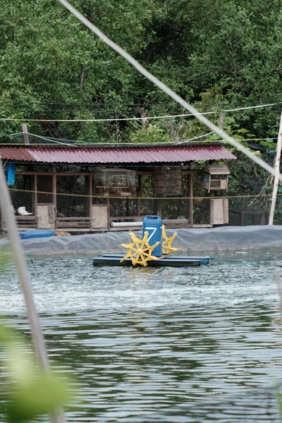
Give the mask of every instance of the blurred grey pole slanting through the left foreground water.
[[[27, 316], [30, 321], [30, 329], [32, 333], [32, 341], [35, 348], [35, 356], [37, 357], [37, 362], [39, 366], [42, 367], [44, 372], [49, 373], [49, 360], [47, 357], [47, 350], [45, 348], [44, 336], [42, 334], [39, 317], [35, 307], [35, 301], [32, 295], [32, 290], [30, 286], [30, 278], [27, 272], [27, 266], [25, 264], [25, 256], [20, 244], [20, 237], [18, 235], [16, 217], [13, 213], [11, 197], [8, 192], [8, 186], [6, 184], [6, 178], [4, 173], [4, 168], [2, 160], [0, 157], [0, 207], [2, 211], [3, 218], [6, 222], [6, 227], [8, 228], [8, 238], [10, 240], [11, 251], [13, 254], [13, 259], [16, 264], [16, 269], [18, 271], [18, 278], [20, 281], [20, 286], [23, 289], [23, 295], [25, 298], [25, 305], [27, 308]], [[65, 417], [63, 412], [52, 412], [49, 415], [51, 423], [65, 423]]]

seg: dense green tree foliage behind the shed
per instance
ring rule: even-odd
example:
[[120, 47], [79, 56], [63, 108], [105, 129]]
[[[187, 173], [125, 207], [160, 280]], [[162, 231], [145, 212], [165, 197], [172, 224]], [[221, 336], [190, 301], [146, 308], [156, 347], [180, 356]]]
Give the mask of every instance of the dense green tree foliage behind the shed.
[[[278, 102], [282, 90], [281, 1], [75, 0], [109, 37], [189, 102]], [[3, 117], [114, 118], [179, 111], [55, 0], [2, 1], [0, 102]], [[207, 104], [206, 109], [212, 106]], [[269, 110], [269, 109], [267, 109]], [[233, 114], [233, 128], [274, 137], [278, 114]], [[171, 123], [159, 123], [171, 136]], [[202, 132], [195, 120], [174, 122], [173, 135]], [[167, 128], [168, 127], [168, 128]], [[120, 142], [139, 123], [30, 123], [30, 132]], [[18, 130], [1, 124], [0, 136]], [[173, 138], [173, 136], [172, 136]]]

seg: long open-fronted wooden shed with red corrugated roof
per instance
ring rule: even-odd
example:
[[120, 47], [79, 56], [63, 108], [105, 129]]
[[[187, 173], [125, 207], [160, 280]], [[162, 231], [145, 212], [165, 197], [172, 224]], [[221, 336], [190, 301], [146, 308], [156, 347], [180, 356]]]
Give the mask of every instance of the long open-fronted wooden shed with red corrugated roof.
[[[51, 140], [52, 142], [54, 140]], [[61, 144], [58, 144], [61, 142]], [[146, 214], [168, 227], [211, 226], [195, 219], [193, 178], [214, 161], [235, 156], [219, 142], [182, 145], [1, 145], [4, 166], [15, 169], [9, 185], [22, 229], [99, 232], [136, 228]], [[13, 164], [13, 166], [11, 166]], [[202, 183], [203, 185], [203, 183]], [[199, 220], [199, 219], [198, 219]], [[0, 220], [0, 230], [6, 225]]]

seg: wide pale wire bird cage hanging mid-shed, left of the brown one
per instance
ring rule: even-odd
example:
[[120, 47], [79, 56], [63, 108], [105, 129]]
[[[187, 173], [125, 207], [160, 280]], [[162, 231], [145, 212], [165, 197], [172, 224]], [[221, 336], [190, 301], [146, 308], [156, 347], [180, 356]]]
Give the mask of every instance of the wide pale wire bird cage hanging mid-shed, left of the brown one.
[[99, 168], [94, 173], [96, 195], [130, 197], [135, 195], [135, 171]]

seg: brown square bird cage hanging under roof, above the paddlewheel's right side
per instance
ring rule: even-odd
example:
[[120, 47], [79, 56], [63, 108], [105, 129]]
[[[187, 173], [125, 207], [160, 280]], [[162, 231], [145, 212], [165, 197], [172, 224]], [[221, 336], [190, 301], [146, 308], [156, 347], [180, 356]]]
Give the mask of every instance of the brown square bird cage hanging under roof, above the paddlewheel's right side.
[[154, 169], [154, 196], [173, 197], [183, 195], [182, 168], [158, 167]]

